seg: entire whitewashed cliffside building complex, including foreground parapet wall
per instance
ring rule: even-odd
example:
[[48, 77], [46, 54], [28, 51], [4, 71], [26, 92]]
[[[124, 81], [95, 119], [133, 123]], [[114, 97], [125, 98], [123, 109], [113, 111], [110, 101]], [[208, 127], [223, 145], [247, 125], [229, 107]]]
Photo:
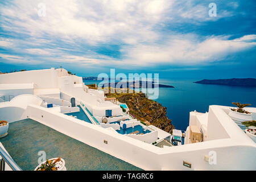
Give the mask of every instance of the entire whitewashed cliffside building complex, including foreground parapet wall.
[[[170, 134], [142, 125], [119, 105], [105, 101], [102, 91], [88, 89], [81, 77], [68, 75], [65, 69], [0, 75], [0, 96], [9, 95], [14, 98], [0, 102], [0, 119], [11, 123], [31, 118], [142, 169], [256, 169], [256, 144], [229, 116], [227, 106], [191, 112], [184, 144], [173, 146]], [[67, 115], [78, 111], [86, 114], [87, 122]], [[255, 120], [256, 108], [247, 111]], [[181, 137], [177, 131], [175, 135]], [[5, 146], [0, 139], [1, 147]]]

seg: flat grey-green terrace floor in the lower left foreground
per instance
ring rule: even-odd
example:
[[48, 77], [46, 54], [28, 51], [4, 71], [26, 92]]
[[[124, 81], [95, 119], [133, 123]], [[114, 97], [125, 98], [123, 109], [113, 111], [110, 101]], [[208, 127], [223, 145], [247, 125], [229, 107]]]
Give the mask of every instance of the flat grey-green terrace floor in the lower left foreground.
[[0, 142], [23, 170], [38, 166], [39, 151], [45, 151], [47, 159], [60, 156], [72, 171], [142, 170], [32, 119], [9, 123], [9, 134]]

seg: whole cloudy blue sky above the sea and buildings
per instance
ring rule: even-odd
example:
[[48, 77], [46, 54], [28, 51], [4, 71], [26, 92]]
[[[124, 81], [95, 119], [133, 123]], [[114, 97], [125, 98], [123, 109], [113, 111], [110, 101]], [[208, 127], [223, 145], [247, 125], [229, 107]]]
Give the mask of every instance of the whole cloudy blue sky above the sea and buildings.
[[0, 71], [256, 78], [255, 10], [254, 0], [1, 1]]

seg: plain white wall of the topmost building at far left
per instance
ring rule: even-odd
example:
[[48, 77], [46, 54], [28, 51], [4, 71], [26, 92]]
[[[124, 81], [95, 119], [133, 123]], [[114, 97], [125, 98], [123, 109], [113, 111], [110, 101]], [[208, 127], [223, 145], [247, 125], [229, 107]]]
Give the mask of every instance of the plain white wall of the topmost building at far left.
[[0, 84], [28, 84], [32, 82], [34, 82], [35, 88], [57, 88], [57, 72], [51, 68], [0, 75]]

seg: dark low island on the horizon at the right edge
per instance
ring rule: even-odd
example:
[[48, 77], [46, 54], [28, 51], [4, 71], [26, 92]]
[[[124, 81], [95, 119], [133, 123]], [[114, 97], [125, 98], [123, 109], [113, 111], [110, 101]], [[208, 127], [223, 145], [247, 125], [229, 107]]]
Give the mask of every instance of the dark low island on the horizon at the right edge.
[[201, 80], [194, 82], [196, 84], [213, 84], [213, 85], [229, 85], [229, 86], [251, 86], [256, 87], [255, 78], [232, 78], [219, 80]]

